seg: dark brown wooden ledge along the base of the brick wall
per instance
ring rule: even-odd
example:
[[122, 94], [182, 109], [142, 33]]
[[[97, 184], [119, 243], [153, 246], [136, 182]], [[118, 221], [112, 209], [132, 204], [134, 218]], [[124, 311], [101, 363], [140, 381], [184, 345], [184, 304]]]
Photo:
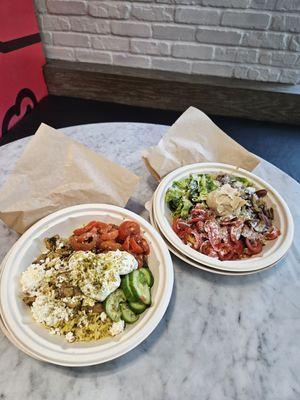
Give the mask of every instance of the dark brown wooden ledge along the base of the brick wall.
[[44, 73], [49, 93], [59, 96], [300, 124], [298, 86], [58, 60]]

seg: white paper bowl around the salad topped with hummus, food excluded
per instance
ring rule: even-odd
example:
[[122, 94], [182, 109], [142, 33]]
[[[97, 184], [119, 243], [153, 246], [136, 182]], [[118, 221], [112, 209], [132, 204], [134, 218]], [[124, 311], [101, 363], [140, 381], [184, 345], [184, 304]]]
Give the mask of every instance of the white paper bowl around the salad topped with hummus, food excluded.
[[[274, 224], [280, 229], [281, 235], [272, 241], [268, 241], [263, 251], [257, 256], [248, 259], [234, 261], [220, 261], [218, 259], [208, 257], [191, 247], [185, 245], [176, 235], [171, 227], [171, 212], [165, 202], [165, 195], [173, 181], [187, 177], [190, 173], [228, 173], [250, 179], [257, 189], [267, 189], [267, 204], [274, 208]], [[267, 182], [258, 178], [256, 175], [227, 164], [218, 163], [202, 163], [191, 164], [171, 172], [159, 184], [153, 196], [153, 213], [155, 221], [166, 239], [180, 253], [186, 257], [204, 264], [208, 267], [232, 271], [232, 272], [250, 272], [258, 271], [278, 262], [288, 251], [293, 241], [294, 223], [292, 215], [285, 201], [279, 193], [272, 188]]]

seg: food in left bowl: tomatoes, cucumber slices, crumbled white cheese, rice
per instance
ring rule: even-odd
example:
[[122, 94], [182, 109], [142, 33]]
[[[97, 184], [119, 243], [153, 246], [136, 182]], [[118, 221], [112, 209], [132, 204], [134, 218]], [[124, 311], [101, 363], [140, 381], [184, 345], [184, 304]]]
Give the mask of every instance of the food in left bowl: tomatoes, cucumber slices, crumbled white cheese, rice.
[[49, 334], [68, 342], [116, 336], [151, 306], [150, 247], [137, 222], [90, 221], [45, 251], [20, 276], [22, 299]]

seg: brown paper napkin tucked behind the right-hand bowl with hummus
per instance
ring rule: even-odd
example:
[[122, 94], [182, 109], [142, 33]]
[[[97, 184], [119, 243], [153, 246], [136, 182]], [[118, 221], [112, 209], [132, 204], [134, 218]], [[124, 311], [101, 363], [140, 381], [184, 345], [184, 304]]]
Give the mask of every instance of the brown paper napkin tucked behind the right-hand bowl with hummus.
[[157, 146], [143, 152], [151, 174], [158, 180], [183, 165], [220, 162], [248, 171], [259, 159], [215, 125], [195, 107], [188, 108], [171, 126]]

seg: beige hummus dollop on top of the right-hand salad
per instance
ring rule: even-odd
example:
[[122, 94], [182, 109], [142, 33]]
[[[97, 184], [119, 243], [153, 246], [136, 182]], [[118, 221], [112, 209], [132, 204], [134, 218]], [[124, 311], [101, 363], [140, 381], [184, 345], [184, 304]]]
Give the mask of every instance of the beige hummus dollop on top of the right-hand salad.
[[208, 193], [206, 203], [209, 208], [215, 210], [217, 215], [226, 217], [237, 216], [246, 201], [240, 197], [238, 189], [226, 183], [219, 189]]

